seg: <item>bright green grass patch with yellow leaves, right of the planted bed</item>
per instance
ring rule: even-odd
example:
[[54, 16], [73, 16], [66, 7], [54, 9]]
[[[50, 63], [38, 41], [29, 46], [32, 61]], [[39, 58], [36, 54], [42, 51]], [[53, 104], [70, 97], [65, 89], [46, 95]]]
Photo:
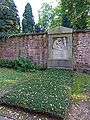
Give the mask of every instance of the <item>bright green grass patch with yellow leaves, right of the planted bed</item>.
[[72, 89], [73, 100], [88, 99], [89, 96], [82, 94], [84, 91], [90, 92], [90, 75], [85, 74], [85, 73], [75, 73], [74, 74], [74, 87]]

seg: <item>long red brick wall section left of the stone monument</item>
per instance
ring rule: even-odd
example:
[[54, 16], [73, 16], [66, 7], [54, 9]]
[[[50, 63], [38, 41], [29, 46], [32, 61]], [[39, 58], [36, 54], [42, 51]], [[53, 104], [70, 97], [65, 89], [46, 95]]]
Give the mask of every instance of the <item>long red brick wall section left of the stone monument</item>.
[[15, 59], [17, 56], [24, 56], [32, 59], [42, 68], [46, 68], [47, 49], [47, 34], [12, 36], [0, 43], [0, 58]]

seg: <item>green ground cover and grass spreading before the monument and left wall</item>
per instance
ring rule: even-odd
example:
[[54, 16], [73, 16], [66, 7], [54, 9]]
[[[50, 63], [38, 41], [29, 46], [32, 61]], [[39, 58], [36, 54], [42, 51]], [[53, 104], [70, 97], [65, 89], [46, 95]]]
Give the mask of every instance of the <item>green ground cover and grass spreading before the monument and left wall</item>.
[[64, 117], [72, 78], [70, 70], [17, 72], [0, 68], [0, 91], [8, 91], [1, 97], [0, 103]]

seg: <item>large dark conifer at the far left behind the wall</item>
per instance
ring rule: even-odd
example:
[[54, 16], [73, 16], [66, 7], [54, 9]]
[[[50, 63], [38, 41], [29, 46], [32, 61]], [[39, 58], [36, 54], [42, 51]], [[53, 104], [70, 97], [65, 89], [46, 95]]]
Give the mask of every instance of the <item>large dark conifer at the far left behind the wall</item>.
[[14, 1], [0, 1], [0, 38], [18, 32], [20, 32], [20, 20]]

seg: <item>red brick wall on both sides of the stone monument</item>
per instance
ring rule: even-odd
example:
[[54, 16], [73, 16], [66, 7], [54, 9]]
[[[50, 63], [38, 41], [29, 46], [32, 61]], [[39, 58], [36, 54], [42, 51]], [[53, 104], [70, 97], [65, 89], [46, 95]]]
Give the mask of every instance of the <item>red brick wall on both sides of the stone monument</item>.
[[[75, 31], [72, 36], [73, 67], [90, 67], [90, 31]], [[12, 36], [0, 42], [0, 59], [24, 56], [42, 68], [47, 67], [48, 35], [25, 34]]]

